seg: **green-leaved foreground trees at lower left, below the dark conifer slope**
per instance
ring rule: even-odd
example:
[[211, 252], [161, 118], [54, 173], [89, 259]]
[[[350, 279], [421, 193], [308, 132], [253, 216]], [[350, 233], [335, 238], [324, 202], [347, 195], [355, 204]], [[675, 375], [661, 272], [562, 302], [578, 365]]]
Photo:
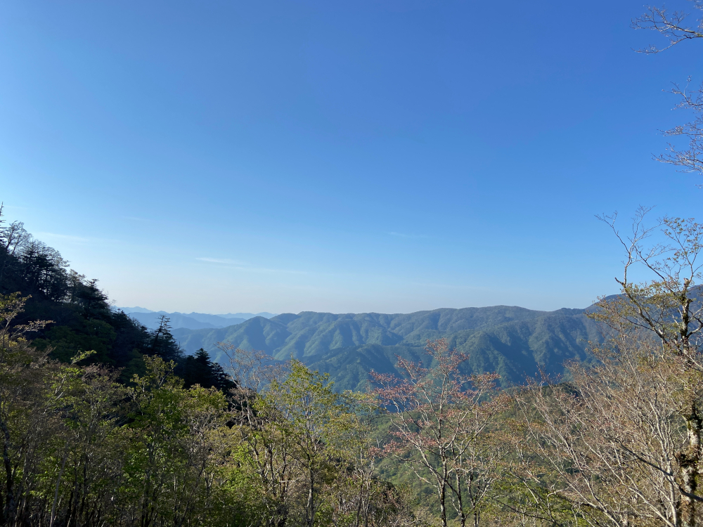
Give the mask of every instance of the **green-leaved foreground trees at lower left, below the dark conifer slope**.
[[[2, 524], [414, 521], [399, 493], [373, 477], [368, 396], [337, 393], [328, 375], [297, 360], [259, 393], [231, 381], [227, 394], [185, 386], [179, 365], [148, 355], [125, 385], [95, 351], [60, 362], [32, 346], [24, 334], [42, 324], [12, 324], [25, 301], [0, 295]], [[221, 375], [205, 351], [193, 361], [196, 375]]]

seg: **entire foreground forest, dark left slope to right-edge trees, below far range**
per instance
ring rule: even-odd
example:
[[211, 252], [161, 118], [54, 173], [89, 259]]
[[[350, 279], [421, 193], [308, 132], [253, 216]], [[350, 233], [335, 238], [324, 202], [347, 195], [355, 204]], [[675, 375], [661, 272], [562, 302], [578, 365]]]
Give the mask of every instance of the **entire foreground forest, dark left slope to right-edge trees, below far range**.
[[183, 353], [3, 221], [2, 524], [694, 526], [703, 226], [665, 218], [652, 248], [640, 216], [569, 382], [501, 389], [440, 338], [363, 391], [232, 343]]

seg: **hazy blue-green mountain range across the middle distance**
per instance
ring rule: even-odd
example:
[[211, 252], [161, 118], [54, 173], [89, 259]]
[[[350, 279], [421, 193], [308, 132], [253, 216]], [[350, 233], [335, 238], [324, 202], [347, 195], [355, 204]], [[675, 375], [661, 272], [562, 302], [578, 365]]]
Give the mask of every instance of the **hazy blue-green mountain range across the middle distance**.
[[369, 372], [396, 372], [397, 357], [426, 362], [427, 339], [444, 337], [469, 354], [467, 372], [498, 372], [503, 386], [520, 384], [542, 370], [560, 375], [567, 360], [588, 360], [588, 342], [600, 333], [585, 309], [534, 311], [515, 306], [443, 308], [408, 314], [283, 313], [255, 316], [214, 329], [176, 329], [188, 353], [208, 351], [226, 365], [218, 349], [226, 342], [258, 349], [278, 360], [297, 358], [328, 372], [337, 389], [364, 389]]

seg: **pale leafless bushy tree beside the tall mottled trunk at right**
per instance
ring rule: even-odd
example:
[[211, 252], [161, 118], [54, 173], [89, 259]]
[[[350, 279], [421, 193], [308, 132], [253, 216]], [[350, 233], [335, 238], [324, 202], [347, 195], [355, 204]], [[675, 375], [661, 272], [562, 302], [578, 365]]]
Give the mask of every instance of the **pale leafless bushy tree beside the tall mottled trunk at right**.
[[[538, 496], [529, 505], [548, 521], [562, 501], [574, 523], [695, 525], [697, 495], [685, 482], [687, 438], [678, 415], [687, 411], [681, 389], [690, 379], [660, 346], [631, 339], [617, 347], [617, 356], [597, 351], [596, 366], [571, 365], [569, 384], [531, 384], [519, 398], [540, 461], [524, 481]], [[537, 417], [527, 418], [531, 412]], [[535, 492], [545, 469], [550, 476]]]

